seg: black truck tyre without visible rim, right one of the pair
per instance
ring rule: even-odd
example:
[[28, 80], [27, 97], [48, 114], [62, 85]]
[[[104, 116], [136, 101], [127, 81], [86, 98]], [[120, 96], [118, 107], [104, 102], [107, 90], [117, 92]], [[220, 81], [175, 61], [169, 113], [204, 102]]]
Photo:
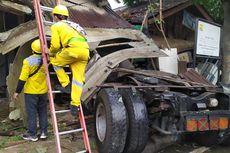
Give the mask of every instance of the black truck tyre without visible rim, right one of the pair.
[[140, 153], [148, 140], [148, 113], [142, 96], [131, 89], [121, 90], [128, 112], [129, 129], [124, 153]]

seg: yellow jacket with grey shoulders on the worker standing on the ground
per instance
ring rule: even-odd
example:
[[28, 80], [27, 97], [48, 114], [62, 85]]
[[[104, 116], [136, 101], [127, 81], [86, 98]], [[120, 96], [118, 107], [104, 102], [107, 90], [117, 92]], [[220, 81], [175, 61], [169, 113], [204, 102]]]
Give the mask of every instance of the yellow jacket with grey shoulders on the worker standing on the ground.
[[45, 94], [47, 93], [46, 75], [44, 67], [41, 66], [37, 73], [29, 77], [40, 65], [41, 55], [33, 54], [23, 60], [22, 71], [19, 79], [26, 81], [24, 93], [26, 94]]

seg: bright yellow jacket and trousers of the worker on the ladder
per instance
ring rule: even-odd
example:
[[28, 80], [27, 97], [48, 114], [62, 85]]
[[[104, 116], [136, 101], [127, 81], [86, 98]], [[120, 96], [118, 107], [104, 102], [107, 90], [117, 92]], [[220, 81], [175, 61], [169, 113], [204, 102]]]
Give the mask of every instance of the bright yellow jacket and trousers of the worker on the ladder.
[[[72, 71], [71, 105], [79, 106], [85, 81], [85, 68], [89, 60], [89, 46], [86, 39], [73, 29], [65, 20], [51, 26], [50, 46], [51, 64], [62, 87], [70, 83], [69, 76], [62, 68], [70, 65]], [[61, 49], [61, 51], [59, 51]]]

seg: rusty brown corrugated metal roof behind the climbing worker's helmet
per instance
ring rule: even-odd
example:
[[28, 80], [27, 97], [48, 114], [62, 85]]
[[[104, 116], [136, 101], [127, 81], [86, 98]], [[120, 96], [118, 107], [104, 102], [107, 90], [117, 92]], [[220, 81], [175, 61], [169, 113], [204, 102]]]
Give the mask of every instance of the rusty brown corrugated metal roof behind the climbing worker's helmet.
[[[12, 2], [32, 7], [29, 0], [11, 0]], [[54, 0], [41, 0], [45, 6], [54, 6]], [[87, 28], [131, 28], [131, 24], [121, 18], [109, 6], [98, 7], [96, 1], [78, 0], [62, 1], [70, 11], [70, 19]]]

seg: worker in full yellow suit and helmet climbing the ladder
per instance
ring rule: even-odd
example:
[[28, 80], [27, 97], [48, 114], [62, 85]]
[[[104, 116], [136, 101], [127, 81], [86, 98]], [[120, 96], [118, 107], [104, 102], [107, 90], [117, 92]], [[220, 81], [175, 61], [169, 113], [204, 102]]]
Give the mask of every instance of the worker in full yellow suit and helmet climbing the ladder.
[[[57, 89], [69, 93], [71, 90], [71, 113], [76, 115], [81, 103], [81, 94], [85, 81], [85, 68], [89, 60], [89, 46], [85, 31], [78, 24], [68, 21], [68, 9], [57, 5], [53, 9], [51, 26], [50, 62], [54, 67], [61, 86]], [[53, 56], [53, 57], [52, 57]], [[70, 65], [72, 83], [63, 66]]]

